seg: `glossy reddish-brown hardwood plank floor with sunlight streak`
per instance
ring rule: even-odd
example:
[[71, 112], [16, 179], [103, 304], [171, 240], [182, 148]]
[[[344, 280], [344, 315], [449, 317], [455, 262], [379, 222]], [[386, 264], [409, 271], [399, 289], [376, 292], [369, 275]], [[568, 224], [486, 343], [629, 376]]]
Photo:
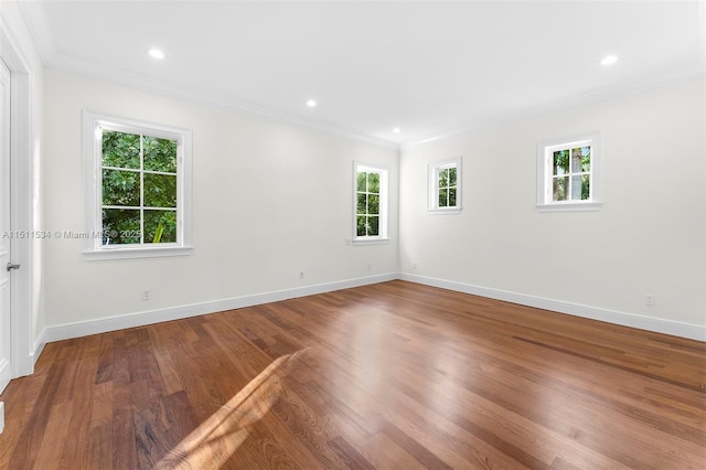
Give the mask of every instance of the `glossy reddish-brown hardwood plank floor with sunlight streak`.
[[0, 468], [704, 469], [706, 344], [404, 281], [50, 343]]

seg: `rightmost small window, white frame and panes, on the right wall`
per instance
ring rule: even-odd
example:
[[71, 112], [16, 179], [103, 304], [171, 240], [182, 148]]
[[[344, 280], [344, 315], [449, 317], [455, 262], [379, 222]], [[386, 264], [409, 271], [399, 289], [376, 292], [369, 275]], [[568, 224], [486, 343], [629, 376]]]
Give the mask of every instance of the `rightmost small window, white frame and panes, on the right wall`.
[[539, 142], [537, 206], [541, 211], [600, 209], [600, 142], [597, 133]]

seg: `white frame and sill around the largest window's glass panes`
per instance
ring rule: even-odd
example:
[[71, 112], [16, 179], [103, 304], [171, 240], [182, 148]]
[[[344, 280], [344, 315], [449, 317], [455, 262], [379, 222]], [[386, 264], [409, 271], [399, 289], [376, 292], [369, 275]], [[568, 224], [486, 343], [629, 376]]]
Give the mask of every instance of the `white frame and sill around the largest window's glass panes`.
[[[191, 130], [84, 111], [84, 172], [86, 231], [84, 256], [88, 260], [151, 258], [189, 255], [191, 245]], [[176, 243], [103, 245], [103, 138], [101, 128], [176, 140]]]

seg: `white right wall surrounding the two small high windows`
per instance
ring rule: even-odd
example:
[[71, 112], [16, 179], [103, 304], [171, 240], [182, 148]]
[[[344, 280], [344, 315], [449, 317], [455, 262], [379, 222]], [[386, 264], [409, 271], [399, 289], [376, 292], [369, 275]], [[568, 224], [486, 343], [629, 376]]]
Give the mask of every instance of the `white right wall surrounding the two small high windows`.
[[[706, 340], [704, 87], [691, 81], [403, 149], [405, 277]], [[596, 130], [602, 210], [538, 213], [537, 142]], [[428, 214], [427, 164], [458, 156], [462, 213]]]

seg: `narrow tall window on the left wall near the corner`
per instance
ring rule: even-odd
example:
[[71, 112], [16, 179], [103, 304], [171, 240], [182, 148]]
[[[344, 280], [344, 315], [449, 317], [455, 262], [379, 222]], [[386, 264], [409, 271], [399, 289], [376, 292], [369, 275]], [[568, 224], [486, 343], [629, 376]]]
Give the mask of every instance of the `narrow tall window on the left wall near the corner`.
[[387, 170], [355, 163], [355, 242], [387, 239]]

